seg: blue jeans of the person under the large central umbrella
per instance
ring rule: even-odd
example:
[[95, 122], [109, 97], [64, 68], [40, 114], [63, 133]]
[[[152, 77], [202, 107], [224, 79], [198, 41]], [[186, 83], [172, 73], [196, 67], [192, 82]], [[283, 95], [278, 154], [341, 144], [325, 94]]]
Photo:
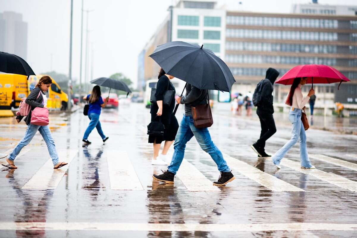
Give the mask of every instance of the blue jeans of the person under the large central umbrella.
[[183, 116], [178, 128], [177, 135], [174, 142], [174, 155], [172, 156], [171, 164], [167, 167], [167, 170], [176, 174], [178, 168], [181, 165], [183, 156], [185, 155], [186, 143], [195, 136], [198, 144], [200, 144], [202, 150], [210, 154], [213, 161], [217, 164], [220, 172], [230, 172], [230, 168], [227, 166], [227, 162], [224, 160], [223, 155], [217, 146], [211, 139], [208, 128], [197, 129], [193, 124], [192, 116]]

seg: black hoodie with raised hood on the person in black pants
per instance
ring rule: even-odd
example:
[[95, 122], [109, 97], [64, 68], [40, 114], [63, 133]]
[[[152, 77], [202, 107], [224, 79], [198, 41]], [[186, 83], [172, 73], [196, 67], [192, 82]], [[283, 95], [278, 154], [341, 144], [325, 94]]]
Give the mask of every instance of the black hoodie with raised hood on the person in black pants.
[[262, 80], [261, 103], [258, 105], [257, 110], [274, 113], [272, 92], [274, 89], [273, 83], [278, 76], [279, 72], [276, 69], [269, 68], [267, 70], [265, 79]]

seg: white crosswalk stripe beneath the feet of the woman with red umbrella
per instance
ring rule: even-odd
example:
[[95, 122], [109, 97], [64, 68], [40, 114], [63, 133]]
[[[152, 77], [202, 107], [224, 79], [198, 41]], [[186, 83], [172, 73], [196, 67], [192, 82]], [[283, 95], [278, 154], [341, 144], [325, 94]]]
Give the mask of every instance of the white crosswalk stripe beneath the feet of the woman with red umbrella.
[[301, 173], [314, 176], [318, 179], [321, 179], [322, 181], [332, 183], [338, 187], [348, 189], [352, 192], [357, 191], [357, 182], [352, 181], [347, 178], [344, 178], [337, 174], [327, 173], [327, 172], [319, 170], [319, 169], [302, 169], [300, 162], [292, 161], [292, 160], [286, 159], [286, 158], [283, 158], [281, 160], [280, 165], [287, 166], [287, 167], [292, 168], [292, 169], [299, 171]]

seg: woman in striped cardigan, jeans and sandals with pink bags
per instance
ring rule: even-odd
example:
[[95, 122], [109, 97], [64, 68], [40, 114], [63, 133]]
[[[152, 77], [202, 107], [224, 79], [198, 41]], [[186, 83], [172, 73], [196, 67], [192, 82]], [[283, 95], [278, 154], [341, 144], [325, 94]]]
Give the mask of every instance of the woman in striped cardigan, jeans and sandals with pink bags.
[[[27, 125], [27, 130], [25, 132], [24, 138], [16, 145], [14, 150], [10, 153], [9, 157], [6, 158], [7, 165], [2, 164], [8, 168], [17, 168], [14, 164], [14, 160], [17, 155], [19, 155], [22, 148], [27, 146], [32, 138], [34, 138], [37, 131], [40, 132], [42, 138], [46, 142], [48, 152], [50, 153], [50, 157], [52, 159], [52, 163], [54, 165], [54, 169], [60, 168], [65, 166], [67, 163], [59, 162], [58, 153], [55, 146], [55, 141], [53, 140], [50, 127], [47, 126], [37, 126], [31, 124], [31, 114], [32, 111], [36, 107], [46, 107], [47, 105], [47, 97], [44, 92], [46, 92], [52, 84], [52, 80], [49, 76], [45, 75], [42, 76], [39, 82], [37, 83], [36, 87], [31, 91], [29, 96], [26, 98], [26, 103], [31, 106], [29, 114], [25, 117], [25, 122]], [[17, 122], [20, 122], [23, 116], [17, 116]], [[40, 155], [41, 156], [41, 155]]]

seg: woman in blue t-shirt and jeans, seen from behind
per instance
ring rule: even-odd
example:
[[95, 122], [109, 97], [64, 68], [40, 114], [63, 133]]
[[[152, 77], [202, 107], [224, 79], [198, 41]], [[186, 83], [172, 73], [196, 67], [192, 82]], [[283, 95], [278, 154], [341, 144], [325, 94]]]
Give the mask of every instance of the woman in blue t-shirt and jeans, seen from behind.
[[92, 132], [92, 130], [97, 128], [97, 131], [102, 137], [103, 142], [108, 140], [109, 137], [106, 137], [102, 131], [102, 127], [100, 126], [99, 122], [99, 116], [100, 116], [100, 111], [102, 110], [102, 107], [105, 107], [107, 105], [107, 102], [109, 100], [109, 96], [105, 98], [105, 102], [103, 102], [102, 96], [100, 92], [100, 87], [98, 85], [93, 87], [92, 93], [90, 95], [87, 95], [83, 97], [84, 100], [87, 100], [89, 102], [89, 109], [88, 109], [88, 117], [89, 117], [89, 125], [87, 127], [86, 132], [84, 132], [83, 136], [83, 142], [87, 144], [91, 144], [92, 142], [88, 141], [88, 136]]

